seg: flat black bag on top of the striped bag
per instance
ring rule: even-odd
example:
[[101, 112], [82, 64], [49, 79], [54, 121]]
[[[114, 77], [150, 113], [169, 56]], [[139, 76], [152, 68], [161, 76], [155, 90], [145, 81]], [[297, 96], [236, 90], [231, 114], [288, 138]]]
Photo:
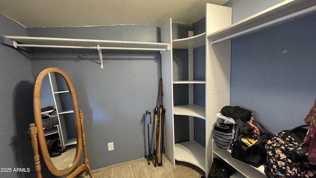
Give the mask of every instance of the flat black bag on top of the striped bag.
[[250, 121], [252, 112], [239, 106], [224, 106], [221, 109], [224, 116], [240, 119], [241, 121]]

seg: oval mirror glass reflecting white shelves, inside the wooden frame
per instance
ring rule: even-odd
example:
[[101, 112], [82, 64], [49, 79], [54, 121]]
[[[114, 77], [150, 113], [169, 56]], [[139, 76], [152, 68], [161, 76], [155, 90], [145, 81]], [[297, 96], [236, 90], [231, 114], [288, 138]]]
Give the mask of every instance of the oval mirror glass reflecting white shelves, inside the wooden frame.
[[40, 107], [50, 159], [57, 170], [64, 170], [76, 156], [77, 130], [71, 95], [61, 74], [50, 72], [43, 78]]

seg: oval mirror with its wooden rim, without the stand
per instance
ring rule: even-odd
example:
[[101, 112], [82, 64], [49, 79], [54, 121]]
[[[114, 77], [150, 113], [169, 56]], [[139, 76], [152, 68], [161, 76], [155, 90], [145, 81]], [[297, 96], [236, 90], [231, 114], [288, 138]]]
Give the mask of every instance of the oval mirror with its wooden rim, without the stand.
[[70, 173], [81, 153], [81, 127], [75, 89], [58, 68], [40, 72], [34, 88], [34, 114], [44, 162], [55, 176]]

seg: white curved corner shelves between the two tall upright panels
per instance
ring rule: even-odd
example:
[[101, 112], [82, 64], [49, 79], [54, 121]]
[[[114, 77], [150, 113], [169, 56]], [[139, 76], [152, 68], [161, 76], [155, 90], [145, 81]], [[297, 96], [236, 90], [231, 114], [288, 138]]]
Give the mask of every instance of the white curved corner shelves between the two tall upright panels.
[[[205, 172], [205, 148], [194, 140], [194, 117], [205, 120], [205, 107], [194, 104], [194, 84], [204, 84], [205, 81], [194, 80], [194, 57], [193, 50], [205, 45], [205, 32], [193, 36], [189, 32], [188, 38], [176, 39], [172, 41], [173, 49], [188, 49], [188, 81], [174, 81], [173, 85], [188, 84], [189, 104], [173, 106], [173, 115], [189, 116], [190, 140], [176, 143], [174, 145], [174, 157], [177, 161], [184, 161], [196, 165]], [[173, 91], [176, 92], [176, 91]], [[176, 133], [175, 133], [176, 134]]]

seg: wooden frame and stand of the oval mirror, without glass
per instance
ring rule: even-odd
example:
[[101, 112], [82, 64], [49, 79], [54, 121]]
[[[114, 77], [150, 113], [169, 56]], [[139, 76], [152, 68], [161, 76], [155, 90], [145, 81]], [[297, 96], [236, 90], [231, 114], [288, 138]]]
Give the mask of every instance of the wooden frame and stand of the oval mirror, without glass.
[[[76, 122], [76, 129], [77, 129], [77, 148], [76, 148], [76, 155], [73, 160], [73, 162], [64, 170], [58, 170], [53, 162], [51, 161], [51, 158], [48, 153], [46, 140], [44, 136], [44, 130], [42, 125], [42, 119], [41, 119], [41, 107], [40, 107], [40, 88], [42, 84], [42, 80], [44, 76], [46, 76], [50, 72], [59, 73], [66, 81], [72, 103], [74, 108], [74, 116], [75, 116], [75, 122]], [[74, 178], [82, 173], [85, 172], [85, 175], [89, 175], [91, 178], [93, 178], [93, 174], [91, 172], [91, 169], [89, 167], [89, 161], [86, 156], [86, 149], [85, 149], [85, 134], [84, 134], [84, 127], [83, 127], [83, 112], [78, 109], [78, 102], [76, 97], [76, 92], [74, 89], [74, 86], [69, 78], [69, 76], [61, 69], [50, 67], [42, 70], [40, 74], [38, 75], [35, 86], [34, 86], [34, 117], [35, 117], [35, 123], [30, 124], [30, 134], [32, 139], [32, 146], [33, 146], [33, 152], [34, 152], [34, 163], [35, 163], [35, 170], [37, 173], [38, 178], [41, 177], [41, 167], [40, 167], [40, 155], [39, 155], [39, 148], [38, 148], [38, 142], [40, 143], [41, 153], [44, 159], [44, 162], [49, 169], [49, 171], [55, 175], [55, 176], [64, 176], [69, 174], [71, 171], [75, 169], [77, 166], [80, 156], [81, 156], [81, 149], [83, 147], [83, 156], [84, 161], [83, 164], [80, 165], [73, 173], [69, 174], [67, 178]]]

